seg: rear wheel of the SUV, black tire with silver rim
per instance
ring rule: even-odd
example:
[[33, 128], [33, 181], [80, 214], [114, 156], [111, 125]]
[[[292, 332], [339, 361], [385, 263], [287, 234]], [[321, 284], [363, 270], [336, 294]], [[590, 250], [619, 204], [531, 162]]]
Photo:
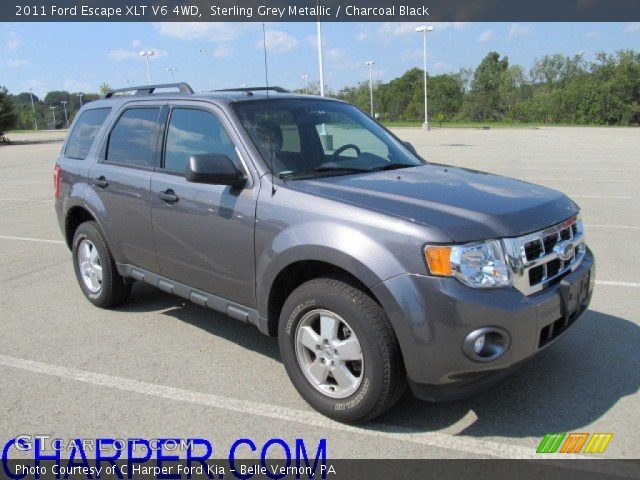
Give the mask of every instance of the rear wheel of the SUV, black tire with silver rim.
[[[96, 307], [111, 308], [127, 299], [131, 282], [118, 273], [104, 234], [96, 222], [84, 222], [76, 229], [72, 254], [78, 284], [91, 303]], [[89, 269], [87, 259], [91, 265]]]

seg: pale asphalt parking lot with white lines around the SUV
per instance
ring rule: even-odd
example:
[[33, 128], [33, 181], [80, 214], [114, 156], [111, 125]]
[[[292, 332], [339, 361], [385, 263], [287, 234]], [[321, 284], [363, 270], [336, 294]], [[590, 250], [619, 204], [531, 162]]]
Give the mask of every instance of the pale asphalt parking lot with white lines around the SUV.
[[614, 434], [603, 456], [638, 457], [640, 130], [395, 132], [430, 161], [544, 184], [582, 207], [596, 291], [571, 334], [472, 398], [407, 394], [373, 424], [333, 422], [301, 399], [276, 340], [252, 326], [144, 285], [114, 311], [86, 301], [53, 210], [60, 140], [16, 134], [0, 146], [2, 442], [205, 437], [224, 456], [239, 437], [277, 436], [327, 438], [332, 458], [536, 457], [546, 433], [580, 431]]

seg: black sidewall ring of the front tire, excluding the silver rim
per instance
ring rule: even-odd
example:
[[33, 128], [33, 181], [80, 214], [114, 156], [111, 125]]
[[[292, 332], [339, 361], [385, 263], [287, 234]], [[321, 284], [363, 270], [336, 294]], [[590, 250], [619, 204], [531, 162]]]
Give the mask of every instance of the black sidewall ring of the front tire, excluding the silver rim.
[[[324, 309], [342, 317], [354, 331], [362, 348], [364, 371], [362, 382], [352, 395], [333, 399], [315, 389], [304, 376], [296, 357], [296, 328], [305, 313]], [[362, 305], [334, 291], [314, 285], [313, 282], [295, 290], [282, 309], [278, 341], [284, 366], [302, 397], [317, 411], [338, 421], [356, 422], [376, 408], [383, 391], [383, 355], [378, 338]]]

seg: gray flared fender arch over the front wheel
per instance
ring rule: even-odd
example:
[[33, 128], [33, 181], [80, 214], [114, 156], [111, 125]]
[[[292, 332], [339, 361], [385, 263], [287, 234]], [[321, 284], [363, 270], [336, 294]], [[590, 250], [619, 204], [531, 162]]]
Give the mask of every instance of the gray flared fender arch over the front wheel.
[[269, 292], [289, 265], [316, 260], [340, 267], [369, 288], [406, 272], [396, 255], [361, 230], [344, 224], [309, 221], [292, 225], [257, 253], [258, 311], [267, 317]]

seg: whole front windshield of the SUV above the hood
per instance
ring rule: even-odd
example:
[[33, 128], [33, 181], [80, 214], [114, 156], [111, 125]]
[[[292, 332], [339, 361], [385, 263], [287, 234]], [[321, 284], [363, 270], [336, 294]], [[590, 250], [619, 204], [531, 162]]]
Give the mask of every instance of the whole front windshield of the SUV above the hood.
[[275, 175], [309, 178], [415, 167], [423, 161], [352, 105], [326, 100], [233, 106]]

